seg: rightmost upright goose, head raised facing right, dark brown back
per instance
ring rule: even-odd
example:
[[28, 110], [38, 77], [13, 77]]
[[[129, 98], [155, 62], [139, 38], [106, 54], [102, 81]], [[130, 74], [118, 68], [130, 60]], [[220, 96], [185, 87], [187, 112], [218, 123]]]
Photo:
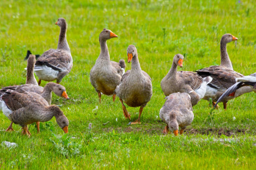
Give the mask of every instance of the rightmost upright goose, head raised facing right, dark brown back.
[[[207, 86], [205, 93], [205, 100], [212, 100], [212, 105], [216, 104], [218, 98], [223, 95], [223, 93], [236, 83], [236, 78], [243, 77], [242, 74], [233, 70], [230, 58], [228, 57], [228, 52], [226, 45], [228, 42], [238, 40], [238, 38], [234, 37], [231, 34], [224, 34], [220, 40], [220, 65], [214, 65], [210, 67], [206, 67], [200, 70], [197, 70], [197, 74], [202, 77], [211, 76], [212, 82], [211, 84], [214, 86]], [[228, 100], [238, 97], [246, 92], [251, 92], [250, 87], [241, 87], [236, 91], [234, 96], [225, 97], [222, 100], [223, 107], [226, 110]], [[218, 108], [219, 106], [217, 106]]]

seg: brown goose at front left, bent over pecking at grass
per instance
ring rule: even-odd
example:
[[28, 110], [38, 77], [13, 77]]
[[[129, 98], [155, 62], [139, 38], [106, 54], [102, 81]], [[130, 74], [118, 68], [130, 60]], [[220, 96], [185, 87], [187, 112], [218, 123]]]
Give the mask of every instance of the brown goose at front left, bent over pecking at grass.
[[56, 117], [59, 127], [68, 133], [69, 120], [56, 105], [48, 105], [41, 95], [34, 92], [26, 92], [23, 90], [0, 92], [0, 102], [3, 107], [3, 113], [11, 122], [19, 124], [24, 135], [30, 137], [28, 124], [33, 122], [46, 122]]

